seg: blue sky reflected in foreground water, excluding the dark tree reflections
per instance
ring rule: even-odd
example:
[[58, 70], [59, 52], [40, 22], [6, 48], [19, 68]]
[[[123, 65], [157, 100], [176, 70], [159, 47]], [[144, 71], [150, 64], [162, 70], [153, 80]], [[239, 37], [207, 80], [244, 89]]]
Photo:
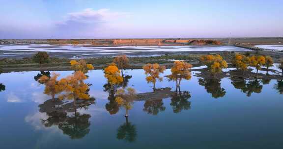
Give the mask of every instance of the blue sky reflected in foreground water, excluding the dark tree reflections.
[[[117, 128], [125, 122], [125, 109], [121, 108], [116, 115], [110, 115], [105, 109], [108, 93], [103, 91], [103, 85], [106, 83], [103, 71], [94, 70], [87, 74], [89, 78], [86, 82], [92, 83], [90, 94], [96, 98], [96, 104], [79, 112], [91, 115], [90, 132], [83, 139], [72, 141], [62, 134], [57, 126], [46, 128], [41, 124], [40, 119], [46, 119], [47, 116], [38, 111], [38, 104], [50, 97], [43, 94], [43, 85], [38, 85], [33, 79], [37, 73], [0, 75], [1, 83], [6, 86], [6, 90], [0, 92], [0, 140], [4, 142], [1, 142], [0, 147], [7, 147], [14, 140], [22, 140], [25, 143], [13, 144], [10, 149], [23, 145], [27, 148], [40, 149], [72, 148], [79, 145], [81, 148], [88, 148], [93, 147], [93, 144], [97, 148], [128, 145], [115, 138]], [[72, 74], [71, 71], [58, 73], [60, 78]], [[138, 93], [152, 92], [152, 84], [146, 83], [143, 70], [127, 70], [126, 74], [133, 75], [129, 80], [129, 87], [135, 88]], [[166, 70], [163, 76], [169, 74], [170, 70]], [[262, 92], [253, 93], [250, 98], [241, 93], [241, 90], [235, 89], [230, 82], [230, 79], [222, 79], [221, 87], [225, 89], [226, 95], [223, 98], [213, 99], [204, 86], [198, 85], [198, 78], [193, 76], [189, 81], [183, 80], [181, 90], [190, 92], [191, 109], [183, 110], [178, 114], [172, 112], [170, 99], [163, 100], [166, 110], [156, 116], [142, 111], [144, 101], [135, 102], [133, 109], [129, 111], [129, 121], [136, 125], [138, 137], [137, 142], [130, 146], [145, 148], [148, 146], [146, 143], [153, 145], [152, 139], [155, 140], [154, 145], [164, 148], [170, 146], [170, 142], [183, 146], [189, 142], [198, 146], [196, 142], [199, 141], [213, 140], [216, 144], [223, 143], [227, 135], [247, 141], [251, 137], [258, 140], [256, 132], [259, 131], [264, 136], [269, 133], [275, 135], [283, 133], [281, 129], [283, 100], [282, 95], [273, 89], [274, 84], [277, 83], [275, 80], [263, 85]], [[174, 85], [174, 82], [168, 82], [164, 77], [164, 81], [157, 82], [156, 86], [172, 87], [174, 90]], [[20, 102], [7, 102], [11, 95]], [[11, 135], [7, 136], [7, 134]], [[270, 137], [270, 139], [276, 138]]]

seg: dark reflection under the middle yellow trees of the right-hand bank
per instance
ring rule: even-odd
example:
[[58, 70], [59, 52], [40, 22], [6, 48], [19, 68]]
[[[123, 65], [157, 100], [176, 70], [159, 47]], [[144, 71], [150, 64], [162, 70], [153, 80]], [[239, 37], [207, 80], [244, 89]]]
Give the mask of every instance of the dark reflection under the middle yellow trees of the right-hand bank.
[[[263, 84], [267, 82], [269, 83], [270, 80], [262, 80], [261, 82]], [[231, 83], [236, 89], [240, 89], [243, 93], [246, 93], [248, 97], [250, 97], [252, 93], [260, 93], [262, 90], [262, 85], [260, 85], [260, 81], [257, 79], [249, 80], [248, 83], [244, 79], [232, 79]]]

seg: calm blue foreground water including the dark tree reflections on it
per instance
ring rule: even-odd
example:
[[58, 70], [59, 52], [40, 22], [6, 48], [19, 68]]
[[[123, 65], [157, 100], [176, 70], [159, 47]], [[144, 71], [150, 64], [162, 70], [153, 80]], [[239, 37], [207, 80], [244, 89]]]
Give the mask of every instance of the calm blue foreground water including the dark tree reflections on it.
[[[0, 149], [283, 148], [283, 89], [281, 82], [277, 90], [277, 80], [235, 83], [193, 76], [181, 82], [181, 90], [188, 91], [182, 98], [134, 102], [126, 124], [125, 109], [115, 106], [104, 91], [103, 71], [88, 74], [95, 104], [77, 113], [40, 112], [38, 105], [51, 97], [34, 80], [38, 73], [0, 75], [5, 85], [0, 92]], [[128, 87], [152, 92], [143, 70], [126, 74], [132, 75]], [[174, 85], [164, 78], [157, 88], [174, 91]]]

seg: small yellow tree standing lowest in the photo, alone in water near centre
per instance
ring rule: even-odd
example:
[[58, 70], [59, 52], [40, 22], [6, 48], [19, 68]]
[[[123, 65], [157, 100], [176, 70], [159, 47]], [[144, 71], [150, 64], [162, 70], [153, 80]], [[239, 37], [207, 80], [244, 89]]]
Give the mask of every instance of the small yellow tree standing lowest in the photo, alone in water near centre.
[[125, 117], [128, 117], [128, 111], [132, 109], [133, 101], [136, 97], [136, 90], [131, 87], [128, 87], [126, 91], [124, 89], [117, 90], [115, 101], [118, 105], [123, 106], [126, 109]]

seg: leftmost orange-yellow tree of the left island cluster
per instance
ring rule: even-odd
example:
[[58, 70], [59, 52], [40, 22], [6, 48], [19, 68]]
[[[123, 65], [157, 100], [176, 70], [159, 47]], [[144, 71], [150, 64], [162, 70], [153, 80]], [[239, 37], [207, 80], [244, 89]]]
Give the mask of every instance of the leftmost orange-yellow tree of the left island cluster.
[[44, 94], [51, 95], [53, 101], [55, 101], [55, 95], [63, 91], [63, 87], [57, 80], [59, 74], [53, 73], [51, 77], [42, 75], [39, 78], [39, 82], [45, 85]]

